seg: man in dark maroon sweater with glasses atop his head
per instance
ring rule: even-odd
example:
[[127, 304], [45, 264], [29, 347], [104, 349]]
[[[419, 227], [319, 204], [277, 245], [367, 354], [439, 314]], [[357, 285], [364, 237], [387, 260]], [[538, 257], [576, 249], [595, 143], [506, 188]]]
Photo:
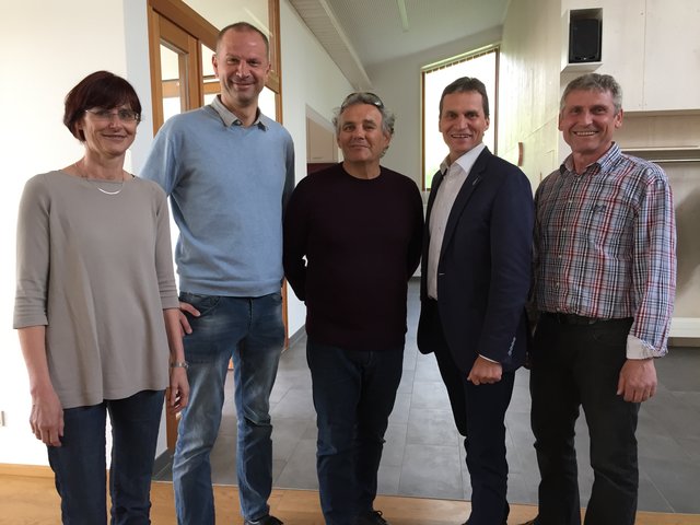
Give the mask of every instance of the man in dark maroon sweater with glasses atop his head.
[[343, 161], [308, 175], [292, 194], [284, 272], [307, 308], [326, 524], [383, 525], [373, 502], [401, 378], [406, 291], [420, 259], [422, 200], [413, 180], [380, 165], [394, 116], [376, 95], [352, 93], [334, 124]]

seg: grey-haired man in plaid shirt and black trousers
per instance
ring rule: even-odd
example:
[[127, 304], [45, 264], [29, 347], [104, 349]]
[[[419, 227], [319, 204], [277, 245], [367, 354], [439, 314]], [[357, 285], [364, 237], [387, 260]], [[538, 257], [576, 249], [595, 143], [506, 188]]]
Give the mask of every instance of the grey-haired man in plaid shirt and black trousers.
[[632, 525], [640, 404], [656, 390], [676, 284], [672, 192], [661, 167], [620, 152], [615, 79], [564, 90], [559, 129], [571, 147], [535, 196], [532, 424], [541, 475], [530, 524], [579, 525], [574, 423], [583, 407], [595, 480], [585, 523]]

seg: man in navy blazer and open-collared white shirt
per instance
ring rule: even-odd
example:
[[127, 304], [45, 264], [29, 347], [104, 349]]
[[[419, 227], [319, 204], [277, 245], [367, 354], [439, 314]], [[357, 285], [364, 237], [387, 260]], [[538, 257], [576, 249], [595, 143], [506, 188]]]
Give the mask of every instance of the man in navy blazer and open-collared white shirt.
[[523, 172], [483, 144], [483, 83], [443, 91], [440, 131], [450, 154], [433, 178], [423, 236], [418, 348], [434, 352], [465, 436], [471, 514], [465, 525], [505, 525], [505, 410], [525, 361], [533, 194]]

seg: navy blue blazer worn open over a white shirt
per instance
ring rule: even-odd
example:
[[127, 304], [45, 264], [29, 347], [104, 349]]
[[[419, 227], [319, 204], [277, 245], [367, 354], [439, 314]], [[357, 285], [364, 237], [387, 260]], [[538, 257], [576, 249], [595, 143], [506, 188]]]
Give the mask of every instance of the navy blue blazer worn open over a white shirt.
[[[428, 200], [421, 262], [418, 348], [434, 350], [434, 327], [425, 312], [430, 213], [442, 182], [439, 172]], [[530, 287], [534, 205], [525, 174], [493, 155], [477, 158], [450, 211], [438, 262], [438, 308], [444, 340], [468, 373], [481, 354], [512, 371], [525, 361], [525, 303]]]

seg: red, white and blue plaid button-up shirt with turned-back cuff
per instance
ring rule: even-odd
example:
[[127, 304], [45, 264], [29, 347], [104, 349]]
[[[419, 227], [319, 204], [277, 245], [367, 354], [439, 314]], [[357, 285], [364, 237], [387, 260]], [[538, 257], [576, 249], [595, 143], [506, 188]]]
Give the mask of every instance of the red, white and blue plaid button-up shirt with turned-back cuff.
[[535, 195], [534, 299], [541, 312], [633, 317], [627, 357], [667, 352], [676, 226], [664, 171], [614, 143], [586, 167], [569, 156]]

